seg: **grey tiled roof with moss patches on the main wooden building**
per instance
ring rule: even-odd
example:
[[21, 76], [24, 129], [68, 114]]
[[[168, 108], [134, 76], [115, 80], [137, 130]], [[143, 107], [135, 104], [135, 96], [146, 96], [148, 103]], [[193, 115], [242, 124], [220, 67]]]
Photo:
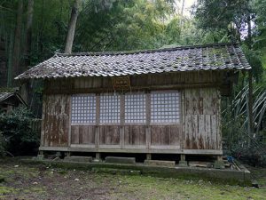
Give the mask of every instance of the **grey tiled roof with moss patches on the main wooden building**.
[[250, 68], [239, 44], [206, 44], [138, 52], [56, 53], [16, 79]]

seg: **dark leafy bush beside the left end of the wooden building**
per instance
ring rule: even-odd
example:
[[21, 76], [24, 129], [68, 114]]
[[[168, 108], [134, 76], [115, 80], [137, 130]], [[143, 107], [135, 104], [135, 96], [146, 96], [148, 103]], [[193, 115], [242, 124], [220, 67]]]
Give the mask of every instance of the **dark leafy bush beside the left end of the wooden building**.
[[8, 115], [0, 115], [0, 132], [7, 151], [13, 155], [21, 155], [38, 147], [39, 135], [31, 128], [33, 120], [31, 112], [24, 107], [15, 108]]

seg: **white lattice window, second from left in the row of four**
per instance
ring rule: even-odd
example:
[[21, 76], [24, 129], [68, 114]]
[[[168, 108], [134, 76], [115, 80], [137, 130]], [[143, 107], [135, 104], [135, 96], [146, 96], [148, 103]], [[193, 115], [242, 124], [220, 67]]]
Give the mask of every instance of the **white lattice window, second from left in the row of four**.
[[100, 95], [100, 123], [120, 123], [120, 95]]

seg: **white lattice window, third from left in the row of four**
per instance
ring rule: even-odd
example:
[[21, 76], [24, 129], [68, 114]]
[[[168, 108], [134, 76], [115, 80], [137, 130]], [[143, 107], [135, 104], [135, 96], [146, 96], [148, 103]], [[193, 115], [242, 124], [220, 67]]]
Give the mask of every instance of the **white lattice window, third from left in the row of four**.
[[125, 95], [125, 123], [145, 123], [145, 93]]

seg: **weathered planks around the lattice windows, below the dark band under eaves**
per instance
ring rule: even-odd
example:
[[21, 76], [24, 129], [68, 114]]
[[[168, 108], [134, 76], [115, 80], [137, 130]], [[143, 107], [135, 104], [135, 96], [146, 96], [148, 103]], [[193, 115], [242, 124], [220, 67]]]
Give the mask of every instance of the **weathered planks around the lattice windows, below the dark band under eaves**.
[[[200, 75], [196, 78], [200, 78]], [[149, 80], [151, 82], [151, 80]], [[82, 87], [89, 84], [79, 83]], [[67, 87], [65, 85], [64, 87]], [[183, 95], [184, 94], [184, 95]], [[220, 93], [216, 88], [185, 89], [180, 105], [181, 124], [150, 124], [150, 94], [146, 98], [146, 124], [99, 124], [99, 102], [97, 97], [97, 120], [95, 125], [75, 124], [71, 126], [71, 144], [96, 144], [143, 146], [182, 146], [187, 149], [222, 149]], [[43, 145], [67, 146], [69, 130], [70, 97], [67, 95], [46, 95], [43, 97]], [[121, 95], [123, 98], [123, 95]], [[180, 97], [181, 98], [181, 97]], [[51, 106], [55, 104], [55, 106]], [[121, 110], [123, 99], [121, 99]], [[184, 142], [185, 141], [185, 142]], [[183, 143], [184, 142], [184, 143]], [[182, 145], [184, 144], [184, 145]]]

